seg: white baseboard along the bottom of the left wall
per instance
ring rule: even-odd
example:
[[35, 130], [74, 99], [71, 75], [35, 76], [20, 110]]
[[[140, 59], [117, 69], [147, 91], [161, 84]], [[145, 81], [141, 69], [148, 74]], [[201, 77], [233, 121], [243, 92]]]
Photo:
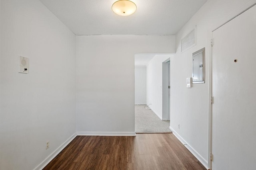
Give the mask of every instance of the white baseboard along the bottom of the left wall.
[[74, 138], [76, 137], [76, 133], [74, 133], [70, 138], [68, 138], [60, 147], [52, 152], [43, 162], [41, 162], [34, 170], [42, 170], [47, 164], [53, 160]]

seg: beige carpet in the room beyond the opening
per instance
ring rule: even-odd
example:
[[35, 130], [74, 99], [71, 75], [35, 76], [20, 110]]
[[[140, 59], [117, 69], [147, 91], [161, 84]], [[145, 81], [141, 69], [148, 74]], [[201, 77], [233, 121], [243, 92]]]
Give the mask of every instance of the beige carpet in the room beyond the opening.
[[169, 129], [170, 121], [162, 121], [146, 105], [135, 105], [136, 133], [172, 133]]

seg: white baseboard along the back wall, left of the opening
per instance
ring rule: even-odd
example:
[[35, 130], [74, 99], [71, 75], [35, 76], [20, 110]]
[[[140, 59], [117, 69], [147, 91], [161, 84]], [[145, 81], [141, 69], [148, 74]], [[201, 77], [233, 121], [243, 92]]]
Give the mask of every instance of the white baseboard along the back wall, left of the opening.
[[77, 132], [77, 136], [136, 136], [135, 132]]

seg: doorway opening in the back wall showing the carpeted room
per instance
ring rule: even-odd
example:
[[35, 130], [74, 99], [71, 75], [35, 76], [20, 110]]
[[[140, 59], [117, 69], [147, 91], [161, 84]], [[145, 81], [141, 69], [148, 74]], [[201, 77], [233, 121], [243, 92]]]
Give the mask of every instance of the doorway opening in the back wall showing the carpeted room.
[[172, 133], [169, 129], [171, 56], [134, 56], [136, 133]]

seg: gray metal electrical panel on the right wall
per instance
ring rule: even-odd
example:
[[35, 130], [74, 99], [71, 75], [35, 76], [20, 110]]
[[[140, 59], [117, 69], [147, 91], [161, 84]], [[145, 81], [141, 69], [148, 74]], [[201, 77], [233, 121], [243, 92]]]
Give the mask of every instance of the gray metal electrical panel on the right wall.
[[200, 49], [193, 53], [193, 72], [192, 82], [193, 83], [204, 83], [204, 55], [205, 48]]

